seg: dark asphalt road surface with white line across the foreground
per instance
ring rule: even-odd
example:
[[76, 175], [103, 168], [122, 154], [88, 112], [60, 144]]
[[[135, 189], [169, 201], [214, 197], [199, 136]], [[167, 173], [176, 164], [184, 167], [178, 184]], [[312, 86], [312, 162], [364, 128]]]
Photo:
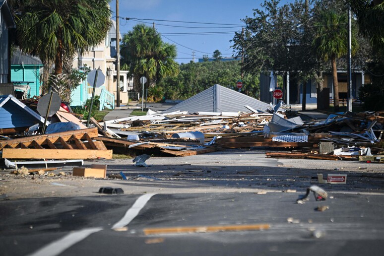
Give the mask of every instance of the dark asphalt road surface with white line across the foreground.
[[[328, 191], [93, 195], [0, 201], [2, 256], [383, 255], [384, 197]], [[316, 211], [318, 206], [328, 206]], [[268, 224], [207, 232], [202, 227]], [[145, 229], [199, 227], [145, 235]]]

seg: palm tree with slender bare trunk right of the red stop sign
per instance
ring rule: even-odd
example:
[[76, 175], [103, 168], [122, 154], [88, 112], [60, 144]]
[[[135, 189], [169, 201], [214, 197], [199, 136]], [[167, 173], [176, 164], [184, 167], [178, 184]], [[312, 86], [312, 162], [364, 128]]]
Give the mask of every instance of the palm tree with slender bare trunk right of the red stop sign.
[[[320, 12], [319, 20], [315, 22], [315, 39], [313, 45], [318, 56], [323, 61], [330, 60], [332, 66], [333, 104], [334, 110], [339, 110], [339, 87], [337, 82], [336, 58], [348, 52], [348, 16], [326, 9]], [[357, 48], [357, 41], [352, 37], [352, 49]]]

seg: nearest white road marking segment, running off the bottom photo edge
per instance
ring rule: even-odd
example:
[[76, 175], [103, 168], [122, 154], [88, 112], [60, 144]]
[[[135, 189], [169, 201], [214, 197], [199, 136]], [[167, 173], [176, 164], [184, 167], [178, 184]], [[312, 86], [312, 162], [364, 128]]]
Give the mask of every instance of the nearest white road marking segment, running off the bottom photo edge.
[[36, 251], [33, 254], [30, 254], [28, 256], [57, 256], [61, 253], [63, 253], [66, 249], [71, 247], [72, 245], [80, 242], [81, 240], [85, 239], [89, 235], [99, 232], [100, 230], [103, 230], [103, 228], [86, 228], [79, 231], [74, 231], [63, 237], [62, 239], [56, 240], [52, 242], [51, 244], [43, 247], [42, 249]]

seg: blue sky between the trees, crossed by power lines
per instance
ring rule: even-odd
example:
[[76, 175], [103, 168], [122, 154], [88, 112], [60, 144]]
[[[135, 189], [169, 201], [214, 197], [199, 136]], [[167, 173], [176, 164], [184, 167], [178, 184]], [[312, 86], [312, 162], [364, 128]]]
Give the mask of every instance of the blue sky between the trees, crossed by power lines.
[[[283, 0], [283, 2], [286, 1]], [[263, 0], [119, 0], [119, 16], [136, 19], [234, 24], [219, 26], [153, 20], [142, 21], [148, 22], [146, 24], [148, 26], [152, 26], [152, 23], [155, 22], [156, 30], [163, 34], [163, 41], [177, 46], [176, 61], [189, 63], [192, 61], [192, 52], [195, 52], [195, 62], [203, 55], [212, 57], [215, 50], [219, 50], [223, 57], [231, 57], [233, 51], [230, 47], [233, 44], [229, 41], [233, 38], [235, 31], [241, 31], [241, 25], [244, 25], [241, 19], [246, 16], [253, 17], [253, 9], [260, 8], [262, 2]], [[116, 0], [112, 0], [110, 5], [113, 16], [116, 16]], [[120, 33], [127, 33], [137, 23], [139, 21], [120, 19]], [[207, 32], [216, 34], [207, 35]]]

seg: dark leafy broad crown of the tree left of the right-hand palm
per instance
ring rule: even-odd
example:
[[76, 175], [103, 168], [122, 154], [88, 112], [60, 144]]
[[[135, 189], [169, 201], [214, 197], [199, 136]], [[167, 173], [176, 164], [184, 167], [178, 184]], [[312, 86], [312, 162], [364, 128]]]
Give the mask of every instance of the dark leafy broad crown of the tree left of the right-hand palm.
[[254, 75], [289, 71], [299, 82], [320, 75], [322, 66], [312, 50], [310, 29], [314, 8], [306, 2], [280, 5], [279, 0], [266, 0], [254, 9], [254, 17], [243, 19], [244, 32], [235, 33], [232, 40], [237, 57], [244, 57], [242, 71]]

